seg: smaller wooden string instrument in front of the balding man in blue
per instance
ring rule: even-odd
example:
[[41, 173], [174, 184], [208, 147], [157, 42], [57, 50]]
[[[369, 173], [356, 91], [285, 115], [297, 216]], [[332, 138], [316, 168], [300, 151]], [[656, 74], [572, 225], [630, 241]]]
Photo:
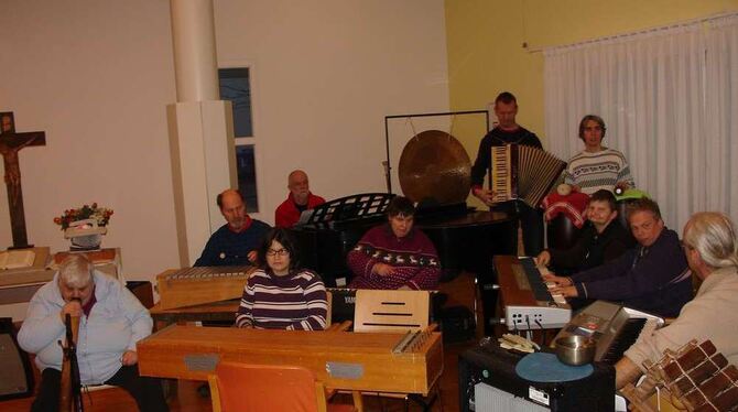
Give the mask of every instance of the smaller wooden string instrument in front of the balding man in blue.
[[256, 267], [196, 267], [171, 269], [156, 275], [163, 310], [241, 297]]

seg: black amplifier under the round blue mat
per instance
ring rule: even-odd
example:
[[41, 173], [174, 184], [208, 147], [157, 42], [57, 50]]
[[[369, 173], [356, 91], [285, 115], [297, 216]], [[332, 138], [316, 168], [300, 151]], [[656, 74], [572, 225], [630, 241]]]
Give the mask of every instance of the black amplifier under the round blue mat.
[[459, 356], [458, 389], [462, 412], [598, 412], [615, 410], [615, 369], [593, 364], [586, 378], [565, 382], [533, 382], [515, 372], [523, 355], [480, 345]]

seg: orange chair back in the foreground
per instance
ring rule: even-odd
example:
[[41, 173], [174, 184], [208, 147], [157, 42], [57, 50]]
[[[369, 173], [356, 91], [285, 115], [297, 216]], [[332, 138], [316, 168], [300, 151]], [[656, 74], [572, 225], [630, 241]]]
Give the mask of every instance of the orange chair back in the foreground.
[[323, 383], [296, 366], [221, 361], [208, 376], [214, 412], [352, 412], [348, 404], [328, 404]]

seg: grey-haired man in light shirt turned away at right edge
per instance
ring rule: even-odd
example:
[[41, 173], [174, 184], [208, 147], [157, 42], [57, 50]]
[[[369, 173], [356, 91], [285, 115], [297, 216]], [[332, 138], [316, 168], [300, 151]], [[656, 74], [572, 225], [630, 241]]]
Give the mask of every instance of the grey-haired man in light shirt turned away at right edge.
[[691, 339], [710, 339], [730, 364], [738, 365], [738, 239], [730, 218], [704, 212], [684, 226], [682, 240], [690, 268], [703, 280], [694, 300], [669, 326], [639, 339], [615, 366], [618, 389], [658, 361], [665, 349], [676, 350]]

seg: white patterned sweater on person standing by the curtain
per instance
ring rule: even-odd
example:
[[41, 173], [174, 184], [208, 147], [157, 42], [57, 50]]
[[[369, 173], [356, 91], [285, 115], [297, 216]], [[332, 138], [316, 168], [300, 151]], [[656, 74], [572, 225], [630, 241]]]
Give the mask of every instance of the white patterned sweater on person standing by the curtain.
[[582, 151], [569, 159], [564, 183], [577, 185], [588, 195], [601, 188], [612, 192], [618, 183], [627, 183], [631, 188], [636, 186], [626, 156], [607, 148], [597, 153]]

